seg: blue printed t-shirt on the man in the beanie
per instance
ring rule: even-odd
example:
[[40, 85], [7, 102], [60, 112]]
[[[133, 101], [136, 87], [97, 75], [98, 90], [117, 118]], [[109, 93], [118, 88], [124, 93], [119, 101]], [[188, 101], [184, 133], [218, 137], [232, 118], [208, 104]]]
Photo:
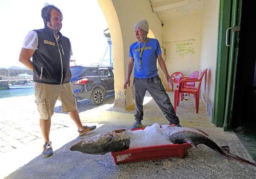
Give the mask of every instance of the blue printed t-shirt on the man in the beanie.
[[[144, 43], [140, 43], [142, 49]], [[157, 39], [147, 38], [146, 45], [142, 53], [142, 64], [140, 65], [139, 42], [135, 42], [130, 46], [129, 57], [133, 57], [134, 77], [151, 78], [156, 77], [157, 73], [157, 55], [161, 55], [161, 47]], [[141, 69], [140, 69], [141, 66]]]

